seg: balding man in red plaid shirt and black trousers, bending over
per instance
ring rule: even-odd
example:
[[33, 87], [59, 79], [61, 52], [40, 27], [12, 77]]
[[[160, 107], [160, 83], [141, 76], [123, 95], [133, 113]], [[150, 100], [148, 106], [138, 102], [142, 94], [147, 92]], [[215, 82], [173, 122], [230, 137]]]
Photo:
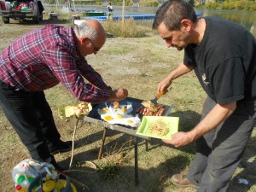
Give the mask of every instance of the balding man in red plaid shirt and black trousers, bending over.
[[61, 83], [79, 101], [93, 103], [128, 96], [126, 89], [111, 90], [84, 58], [105, 41], [98, 21], [83, 20], [27, 32], [0, 53], [0, 106], [33, 160], [63, 171], [53, 154], [71, 149], [70, 141], [61, 141], [44, 90]]

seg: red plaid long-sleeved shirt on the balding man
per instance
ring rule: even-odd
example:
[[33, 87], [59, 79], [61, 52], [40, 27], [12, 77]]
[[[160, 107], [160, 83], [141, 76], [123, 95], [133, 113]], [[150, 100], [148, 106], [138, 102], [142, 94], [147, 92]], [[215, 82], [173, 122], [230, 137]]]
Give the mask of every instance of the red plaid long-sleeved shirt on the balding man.
[[43, 91], [61, 82], [85, 102], [106, 102], [110, 96], [101, 75], [79, 55], [72, 27], [47, 25], [16, 39], [0, 53], [0, 79], [27, 91]]

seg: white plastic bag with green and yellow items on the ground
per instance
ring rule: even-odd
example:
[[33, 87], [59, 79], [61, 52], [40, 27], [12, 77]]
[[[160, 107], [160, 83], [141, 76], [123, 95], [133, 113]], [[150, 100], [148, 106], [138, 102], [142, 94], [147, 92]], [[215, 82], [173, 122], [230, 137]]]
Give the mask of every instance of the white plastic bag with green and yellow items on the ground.
[[16, 192], [77, 192], [69, 177], [57, 179], [55, 167], [45, 162], [22, 160], [13, 169], [12, 177]]

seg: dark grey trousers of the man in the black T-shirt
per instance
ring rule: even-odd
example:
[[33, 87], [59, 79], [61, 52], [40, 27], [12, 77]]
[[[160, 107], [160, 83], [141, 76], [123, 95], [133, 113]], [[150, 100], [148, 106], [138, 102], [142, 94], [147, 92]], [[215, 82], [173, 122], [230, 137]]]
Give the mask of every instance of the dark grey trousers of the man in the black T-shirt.
[[[216, 105], [207, 97], [202, 119]], [[196, 141], [195, 159], [188, 179], [200, 188], [197, 192], [224, 192], [241, 161], [256, 122], [256, 101], [237, 102], [234, 113]]]

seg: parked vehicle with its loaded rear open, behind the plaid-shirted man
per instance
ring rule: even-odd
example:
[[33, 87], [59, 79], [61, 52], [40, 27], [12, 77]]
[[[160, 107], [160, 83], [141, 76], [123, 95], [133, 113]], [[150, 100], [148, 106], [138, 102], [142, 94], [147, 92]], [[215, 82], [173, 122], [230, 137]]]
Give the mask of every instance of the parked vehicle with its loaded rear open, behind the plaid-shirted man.
[[43, 20], [44, 6], [39, 0], [0, 0], [0, 15], [3, 22], [9, 23], [9, 19], [25, 20], [27, 18], [34, 20], [36, 24]]

